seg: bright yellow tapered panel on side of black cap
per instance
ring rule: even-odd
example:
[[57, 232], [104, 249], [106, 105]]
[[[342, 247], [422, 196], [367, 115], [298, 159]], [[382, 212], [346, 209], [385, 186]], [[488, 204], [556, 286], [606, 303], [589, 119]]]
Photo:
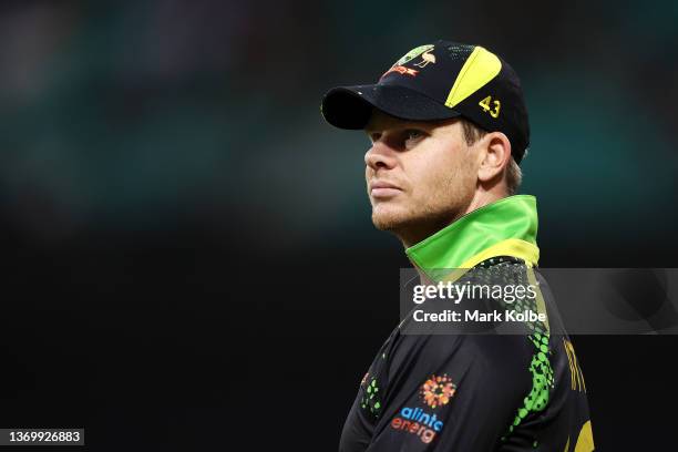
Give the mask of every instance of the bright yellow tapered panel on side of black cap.
[[[450, 90], [445, 105], [450, 109], [469, 97], [496, 76], [502, 70], [502, 62], [492, 52], [476, 47], [459, 71], [454, 85]], [[499, 110], [497, 110], [499, 114]]]

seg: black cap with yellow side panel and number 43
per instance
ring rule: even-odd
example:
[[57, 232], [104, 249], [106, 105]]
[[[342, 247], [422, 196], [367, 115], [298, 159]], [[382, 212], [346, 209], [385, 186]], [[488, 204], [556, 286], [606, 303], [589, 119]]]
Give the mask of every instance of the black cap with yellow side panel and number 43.
[[520, 163], [530, 144], [527, 109], [515, 71], [480, 45], [436, 41], [398, 60], [376, 84], [333, 88], [322, 115], [340, 129], [364, 129], [372, 107], [402, 120], [463, 116], [487, 132], [503, 132]]

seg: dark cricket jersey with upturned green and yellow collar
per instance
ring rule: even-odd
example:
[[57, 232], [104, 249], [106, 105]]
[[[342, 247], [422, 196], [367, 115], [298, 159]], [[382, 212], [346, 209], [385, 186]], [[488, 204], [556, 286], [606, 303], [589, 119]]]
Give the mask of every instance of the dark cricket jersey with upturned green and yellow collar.
[[[511, 307], [547, 320], [518, 322], [522, 333], [409, 333], [412, 319], [405, 317], [360, 382], [339, 450], [593, 451], [584, 377], [534, 271], [534, 197], [484, 206], [407, 253], [430, 280], [441, 280], [444, 268], [470, 269], [456, 282], [538, 280], [535, 299]], [[483, 312], [507, 306], [494, 298], [474, 302]]]

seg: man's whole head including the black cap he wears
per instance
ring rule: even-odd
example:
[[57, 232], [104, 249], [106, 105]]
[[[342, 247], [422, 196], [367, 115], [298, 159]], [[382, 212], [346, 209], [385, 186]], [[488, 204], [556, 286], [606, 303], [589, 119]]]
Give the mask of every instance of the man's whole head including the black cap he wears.
[[530, 143], [522, 89], [513, 69], [481, 47], [420, 45], [376, 84], [330, 90], [322, 114], [368, 133], [372, 219], [405, 245], [520, 185]]

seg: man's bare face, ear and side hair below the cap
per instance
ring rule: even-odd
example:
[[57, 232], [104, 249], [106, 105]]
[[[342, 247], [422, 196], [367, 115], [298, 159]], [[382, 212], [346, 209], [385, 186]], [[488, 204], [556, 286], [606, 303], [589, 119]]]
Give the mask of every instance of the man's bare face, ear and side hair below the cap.
[[364, 155], [372, 222], [411, 246], [511, 194], [511, 144], [463, 119], [403, 121], [374, 110]]

